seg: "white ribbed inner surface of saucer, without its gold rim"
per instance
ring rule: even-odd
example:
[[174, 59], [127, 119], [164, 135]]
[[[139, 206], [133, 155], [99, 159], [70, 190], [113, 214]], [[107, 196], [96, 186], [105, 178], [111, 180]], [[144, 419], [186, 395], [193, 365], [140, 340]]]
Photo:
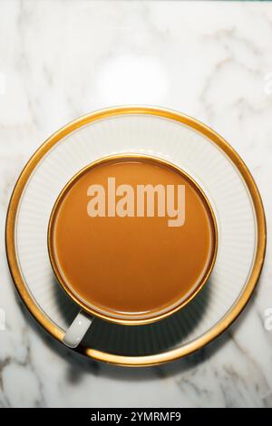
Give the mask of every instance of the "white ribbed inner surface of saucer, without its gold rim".
[[123, 326], [95, 319], [84, 346], [98, 352], [152, 356], [197, 341], [237, 303], [255, 263], [256, 210], [238, 168], [209, 137], [167, 115], [126, 112], [84, 121], [37, 161], [17, 206], [15, 256], [24, 288], [40, 313], [63, 332], [79, 309], [53, 276], [47, 226], [55, 199], [76, 172], [112, 154], [151, 154], [189, 172], [209, 197], [219, 250], [208, 285], [178, 314], [156, 324]]

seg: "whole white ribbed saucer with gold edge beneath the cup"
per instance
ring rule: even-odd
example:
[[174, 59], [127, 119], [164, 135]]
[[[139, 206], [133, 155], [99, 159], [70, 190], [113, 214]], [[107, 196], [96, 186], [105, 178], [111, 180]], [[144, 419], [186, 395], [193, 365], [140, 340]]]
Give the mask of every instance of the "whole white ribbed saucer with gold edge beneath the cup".
[[56, 282], [48, 256], [53, 204], [80, 169], [123, 153], [168, 160], [199, 183], [217, 218], [218, 256], [207, 286], [178, 313], [139, 326], [95, 318], [76, 351], [121, 365], [165, 363], [208, 344], [235, 320], [265, 256], [266, 223], [256, 184], [215, 131], [176, 111], [138, 106], [96, 111], [67, 124], [34, 153], [15, 185], [6, 221], [7, 257], [24, 304], [62, 341], [79, 309]]

